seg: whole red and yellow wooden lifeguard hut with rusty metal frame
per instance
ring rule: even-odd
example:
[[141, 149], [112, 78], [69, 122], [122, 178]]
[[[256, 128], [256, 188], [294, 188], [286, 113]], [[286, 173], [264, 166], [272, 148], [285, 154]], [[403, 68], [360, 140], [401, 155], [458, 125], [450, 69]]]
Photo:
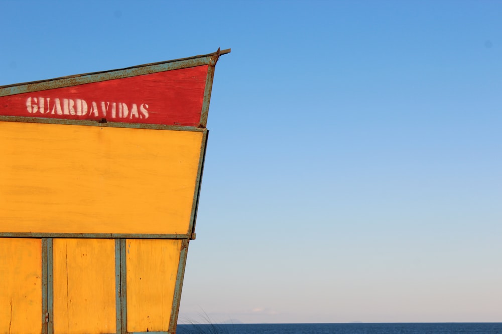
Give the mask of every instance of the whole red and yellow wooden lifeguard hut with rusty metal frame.
[[0, 87], [0, 332], [176, 332], [228, 52]]

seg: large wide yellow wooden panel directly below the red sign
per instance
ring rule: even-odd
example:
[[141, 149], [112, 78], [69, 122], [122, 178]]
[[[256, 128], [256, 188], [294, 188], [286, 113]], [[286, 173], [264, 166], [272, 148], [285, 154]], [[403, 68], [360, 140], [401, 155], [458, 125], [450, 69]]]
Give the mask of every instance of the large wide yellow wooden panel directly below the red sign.
[[0, 232], [188, 233], [202, 138], [0, 122]]

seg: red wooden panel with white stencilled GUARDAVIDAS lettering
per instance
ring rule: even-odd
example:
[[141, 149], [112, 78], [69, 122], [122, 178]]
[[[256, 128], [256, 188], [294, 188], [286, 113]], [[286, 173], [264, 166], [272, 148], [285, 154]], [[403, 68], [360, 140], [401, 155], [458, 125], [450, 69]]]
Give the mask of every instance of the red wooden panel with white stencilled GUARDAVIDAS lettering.
[[199, 126], [208, 66], [0, 97], [0, 115]]

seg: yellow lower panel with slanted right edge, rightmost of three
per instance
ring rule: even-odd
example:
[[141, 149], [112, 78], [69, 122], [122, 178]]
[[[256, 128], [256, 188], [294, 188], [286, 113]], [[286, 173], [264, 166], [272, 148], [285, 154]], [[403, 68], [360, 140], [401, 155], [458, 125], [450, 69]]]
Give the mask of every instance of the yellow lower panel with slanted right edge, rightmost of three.
[[127, 240], [127, 329], [167, 331], [181, 240]]

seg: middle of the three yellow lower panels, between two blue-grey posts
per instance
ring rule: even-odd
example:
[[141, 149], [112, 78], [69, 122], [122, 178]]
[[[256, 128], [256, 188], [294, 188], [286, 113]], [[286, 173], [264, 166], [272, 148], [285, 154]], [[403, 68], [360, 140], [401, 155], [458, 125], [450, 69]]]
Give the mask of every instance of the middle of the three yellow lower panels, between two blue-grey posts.
[[54, 333], [115, 333], [115, 241], [54, 239]]

